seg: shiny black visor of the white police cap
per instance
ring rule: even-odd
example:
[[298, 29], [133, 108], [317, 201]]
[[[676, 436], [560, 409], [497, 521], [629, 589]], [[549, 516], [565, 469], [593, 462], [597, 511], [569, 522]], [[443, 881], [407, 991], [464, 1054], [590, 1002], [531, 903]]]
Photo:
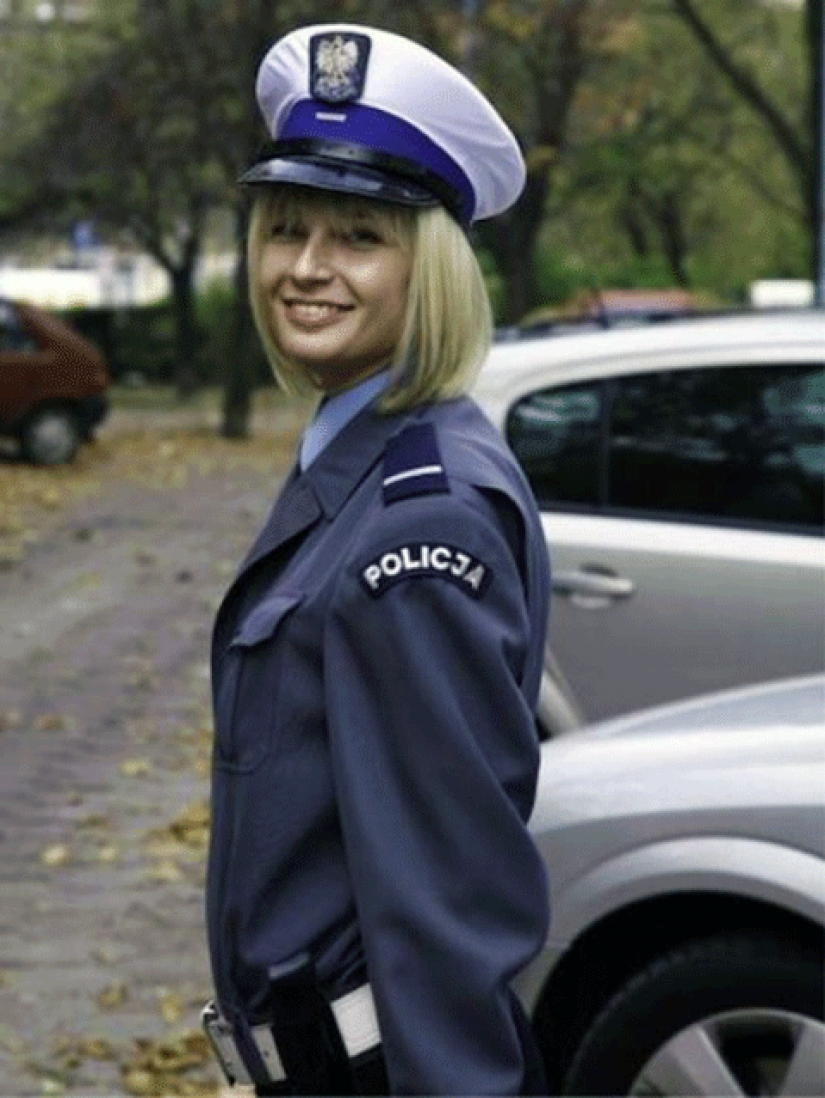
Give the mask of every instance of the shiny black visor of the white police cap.
[[282, 142], [270, 147], [238, 182], [293, 183], [397, 205], [445, 205], [459, 222], [466, 220], [461, 195], [444, 180], [398, 157], [383, 157], [361, 146]]

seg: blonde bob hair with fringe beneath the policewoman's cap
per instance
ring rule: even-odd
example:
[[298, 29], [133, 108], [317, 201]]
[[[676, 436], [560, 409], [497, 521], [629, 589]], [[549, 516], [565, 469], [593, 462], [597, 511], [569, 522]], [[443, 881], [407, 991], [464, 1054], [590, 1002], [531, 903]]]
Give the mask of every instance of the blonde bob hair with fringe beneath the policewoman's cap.
[[255, 326], [279, 384], [292, 393], [314, 389], [301, 366], [278, 349], [260, 264], [272, 220], [298, 220], [308, 211], [322, 212], [342, 228], [367, 221], [412, 255], [406, 315], [380, 411], [400, 412], [467, 392], [490, 348], [492, 316], [481, 269], [458, 223], [442, 206], [415, 210], [288, 184], [260, 189], [247, 242]]

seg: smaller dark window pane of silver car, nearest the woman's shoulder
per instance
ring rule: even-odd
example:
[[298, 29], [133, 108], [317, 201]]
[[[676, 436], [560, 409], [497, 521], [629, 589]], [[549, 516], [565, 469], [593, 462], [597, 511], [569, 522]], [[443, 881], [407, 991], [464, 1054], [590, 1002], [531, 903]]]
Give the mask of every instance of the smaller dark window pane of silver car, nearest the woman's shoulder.
[[508, 440], [539, 506], [599, 503], [602, 407], [597, 382], [532, 393], [511, 410]]

